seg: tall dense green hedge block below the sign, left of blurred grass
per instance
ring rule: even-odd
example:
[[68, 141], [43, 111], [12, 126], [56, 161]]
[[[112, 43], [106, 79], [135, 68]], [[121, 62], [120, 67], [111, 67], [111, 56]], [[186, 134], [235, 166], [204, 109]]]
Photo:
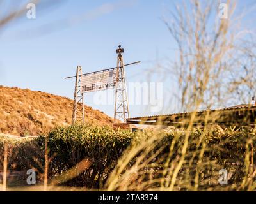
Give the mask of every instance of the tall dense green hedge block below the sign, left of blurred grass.
[[[88, 159], [90, 167], [65, 185], [100, 187], [115, 168], [118, 158], [131, 143], [133, 136], [131, 131], [115, 131], [108, 126], [56, 128], [49, 133], [49, 157], [52, 157], [50, 175], [54, 177], [65, 174], [65, 171], [83, 159]], [[38, 140], [44, 149], [44, 137]]]

